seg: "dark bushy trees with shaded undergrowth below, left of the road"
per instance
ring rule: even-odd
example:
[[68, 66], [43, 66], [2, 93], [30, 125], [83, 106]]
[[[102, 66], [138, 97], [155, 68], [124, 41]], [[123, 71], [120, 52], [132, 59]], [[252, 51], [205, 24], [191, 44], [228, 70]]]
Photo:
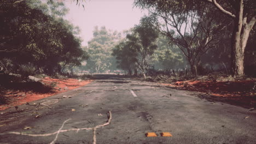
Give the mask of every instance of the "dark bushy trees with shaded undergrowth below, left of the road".
[[67, 79], [89, 58], [79, 28], [63, 19], [68, 13], [63, 3], [4, 0], [0, 9], [0, 105], [10, 102], [7, 93], [53, 93], [53, 83], [37, 79]]

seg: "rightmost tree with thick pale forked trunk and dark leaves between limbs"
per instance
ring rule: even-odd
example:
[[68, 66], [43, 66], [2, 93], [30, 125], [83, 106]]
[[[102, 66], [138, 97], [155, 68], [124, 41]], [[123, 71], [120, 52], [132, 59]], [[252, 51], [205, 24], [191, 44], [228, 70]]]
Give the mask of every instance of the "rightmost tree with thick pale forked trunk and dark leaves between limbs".
[[249, 34], [256, 22], [255, 1], [230, 0], [218, 3], [216, 0], [207, 0], [218, 10], [233, 19], [231, 52], [234, 76], [244, 75], [245, 48]]

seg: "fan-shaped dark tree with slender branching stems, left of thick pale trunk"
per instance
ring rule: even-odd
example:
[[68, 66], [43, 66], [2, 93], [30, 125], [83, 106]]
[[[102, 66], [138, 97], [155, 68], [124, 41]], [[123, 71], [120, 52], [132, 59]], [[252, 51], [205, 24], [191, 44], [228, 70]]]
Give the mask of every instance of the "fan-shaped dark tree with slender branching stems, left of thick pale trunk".
[[201, 64], [202, 55], [217, 46], [218, 35], [225, 29], [219, 22], [223, 19], [217, 21], [217, 15], [209, 13], [210, 7], [194, 1], [137, 0], [135, 5], [149, 10], [148, 19], [179, 47], [193, 74]]

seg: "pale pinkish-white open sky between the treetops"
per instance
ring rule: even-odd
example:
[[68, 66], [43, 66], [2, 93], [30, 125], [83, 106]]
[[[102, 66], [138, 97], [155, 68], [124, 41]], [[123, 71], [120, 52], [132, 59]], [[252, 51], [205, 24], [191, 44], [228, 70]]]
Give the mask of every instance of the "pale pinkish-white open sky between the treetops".
[[107, 29], [121, 32], [138, 24], [144, 15], [140, 9], [133, 8], [133, 0], [86, 0], [83, 3], [85, 9], [72, 1], [65, 3], [69, 8], [66, 19], [81, 29], [83, 45], [87, 45], [92, 38], [95, 26], [106, 26]]

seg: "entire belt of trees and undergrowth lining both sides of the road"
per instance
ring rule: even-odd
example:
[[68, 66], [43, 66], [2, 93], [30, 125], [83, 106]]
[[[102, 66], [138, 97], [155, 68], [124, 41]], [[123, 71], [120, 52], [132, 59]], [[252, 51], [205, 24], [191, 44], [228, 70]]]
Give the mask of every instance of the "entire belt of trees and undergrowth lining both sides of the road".
[[134, 5], [149, 11], [137, 25], [123, 32], [96, 26], [82, 46], [79, 28], [63, 19], [68, 9], [62, 2], [0, 2], [0, 105], [8, 103], [2, 95], [11, 88], [49, 93], [57, 84], [40, 81], [45, 77], [89, 80], [95, 73], [242, 96], [255, 105], [255, 1], [135, 0]]

